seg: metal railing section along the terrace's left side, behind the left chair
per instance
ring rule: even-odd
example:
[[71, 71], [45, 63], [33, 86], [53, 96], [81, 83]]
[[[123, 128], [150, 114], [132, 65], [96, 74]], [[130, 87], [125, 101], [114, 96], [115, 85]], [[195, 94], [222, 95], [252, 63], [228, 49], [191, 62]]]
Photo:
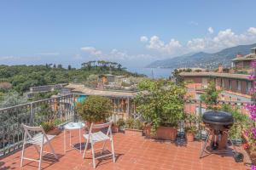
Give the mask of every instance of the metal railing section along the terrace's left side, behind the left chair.
[[0, 156], [22, 146], [21, 123], [39, 126], [53, 118], [68, 122], [73, 115], [73, 94], [0, 109]]

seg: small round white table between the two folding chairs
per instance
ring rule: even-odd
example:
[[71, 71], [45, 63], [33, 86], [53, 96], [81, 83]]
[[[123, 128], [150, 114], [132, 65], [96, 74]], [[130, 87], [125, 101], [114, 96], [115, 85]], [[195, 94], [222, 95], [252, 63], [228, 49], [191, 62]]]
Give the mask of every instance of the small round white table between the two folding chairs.
[[80, 143], [80, 153], [82, 153], [82, 142], [81, 142], [81, 130], [85, 127], [84, 122], [68, 122], [67, 125], [64, 126], [64, 153], [66, 153], [68, 150], [66, 150], [66, 131], [69, 131], [69, 146], [72, 147], [70, 150], [78, 150], [72, 142], [71, 142], [71, 131], [73, 130], [79, 130], [79, 143]]

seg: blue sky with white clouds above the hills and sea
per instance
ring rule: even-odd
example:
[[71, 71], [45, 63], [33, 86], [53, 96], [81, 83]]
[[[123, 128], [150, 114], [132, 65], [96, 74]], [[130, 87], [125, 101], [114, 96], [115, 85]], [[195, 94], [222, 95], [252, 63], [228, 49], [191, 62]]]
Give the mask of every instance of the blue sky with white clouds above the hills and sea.
[[0, 2], [0, 63], [125, 66], [256, 42], [256, 1]]

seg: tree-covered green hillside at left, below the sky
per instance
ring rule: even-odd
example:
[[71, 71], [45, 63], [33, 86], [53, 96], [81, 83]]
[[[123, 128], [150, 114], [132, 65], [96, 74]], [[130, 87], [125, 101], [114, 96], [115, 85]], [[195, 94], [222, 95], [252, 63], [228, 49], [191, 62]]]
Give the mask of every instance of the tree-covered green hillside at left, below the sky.
[[[0, 65], [0, 100], [5, 95], [22, 95], [32, 86], [56, 83], [85, 82], [90, 75], [113, 74], [140, 77], [137, 73], [126, 71], [119, 63], [104, 60], [89, 61], [76, 69], [71, 65]], [[17, 95], [17, 94], [15, 94]]]

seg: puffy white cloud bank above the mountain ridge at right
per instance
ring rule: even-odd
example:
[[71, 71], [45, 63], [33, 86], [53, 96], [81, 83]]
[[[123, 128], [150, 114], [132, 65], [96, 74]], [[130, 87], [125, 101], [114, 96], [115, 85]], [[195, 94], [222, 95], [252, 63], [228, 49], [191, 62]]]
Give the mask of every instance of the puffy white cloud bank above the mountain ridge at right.
[[230, 28], [218, 31], [216, 35], [213, 35], [214, 30], [209, 27], [208, 32], [211, 36], [207, 34], [205, 37], [195, 37], [184, 44], [175, 39], [171, 39], [170, 42], [164, 42], [160, 40], [160, 37], [153, 36], [150, 37], [146, 48], [163, 55], [174, 56], [199, 51], [213, 53], [224, 48], [256, 42], [256, 27], [250, 27], [241, 34], [236, 34]]

